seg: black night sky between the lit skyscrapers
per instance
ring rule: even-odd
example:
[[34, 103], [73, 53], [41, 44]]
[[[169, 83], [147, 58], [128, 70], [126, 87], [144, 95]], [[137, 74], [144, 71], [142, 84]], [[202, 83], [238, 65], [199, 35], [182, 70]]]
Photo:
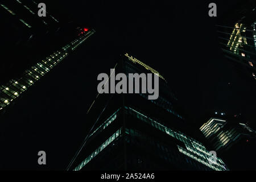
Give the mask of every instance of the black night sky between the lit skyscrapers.
[[[1, 157], [13, 158], [0, 168], [67, 167], [90, 125], [84, 118], [97, 94], [97, 75], [108, 73], [123, 52], [166, 77], [196, 128], [215, 110], [253, 113], [252, 86], [223, 58], [214, 26], [217, 18], [208, 16], [210, 2], [46, 3], [48, 11], [59, 9], [56, 16], [89, 24], [96, 34], [11, 108], [18, 114], [6, 115], [10, 122], [2, 136], [6, 150]], [[221, 16], [236, 1], [214, 2]], [[37, 165], [39, 150], [47, 152], [46, 167]]]

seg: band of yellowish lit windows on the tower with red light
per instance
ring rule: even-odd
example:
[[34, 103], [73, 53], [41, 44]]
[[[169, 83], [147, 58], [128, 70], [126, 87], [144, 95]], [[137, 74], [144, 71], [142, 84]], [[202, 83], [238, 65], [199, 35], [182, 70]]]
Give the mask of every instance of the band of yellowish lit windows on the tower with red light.
[[[82, 40], [77, 43], [80, 43]], [[76, 44], [75, 44], [76, 46]], [[69, 44], [65, 47], [73, 47]], [[17, 97], [20, 96], [28, 87], [33, 85], [36, 81], [38, 81], [42, 76], [44, 76], [50, 69], [55, 67], [60, 61], [62, 61], [68, 52], [66, 49], [63, 51], [56, 51], [52, 55], [48, 56], [46, 60], [42, 60], [30, 69], [25, 71], [25, 74], [22, 78], [18, 80], [10, 81], [6, 86], [1, 86], [1, 94], [0, 94], [0, 110], [4, 107], [10, 105], [10, 103]]]

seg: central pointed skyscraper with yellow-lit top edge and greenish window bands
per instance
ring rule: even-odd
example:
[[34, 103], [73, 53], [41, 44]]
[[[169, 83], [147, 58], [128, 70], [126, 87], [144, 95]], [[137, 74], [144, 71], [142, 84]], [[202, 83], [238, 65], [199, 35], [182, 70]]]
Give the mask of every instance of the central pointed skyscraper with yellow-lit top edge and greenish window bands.
[[[68, 170], [228, 170], [207, 148], [189, 137], [191, 128], [176, 107], [177, 98], [158, 71], [133, 56], [122, 55], [116, 73], [159, 75], [159, 97], [147, 94], [101, 94], [89, 107], [92, 130]], [[141, 82], [140, 82], [141, 84]]]

